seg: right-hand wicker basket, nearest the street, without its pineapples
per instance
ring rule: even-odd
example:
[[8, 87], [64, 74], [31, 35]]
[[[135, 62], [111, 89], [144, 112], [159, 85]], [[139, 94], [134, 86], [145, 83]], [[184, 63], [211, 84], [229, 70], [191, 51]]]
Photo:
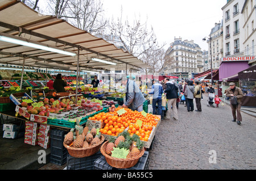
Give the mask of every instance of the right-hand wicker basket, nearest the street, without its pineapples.
[[137, 157], [133, 158], [114, 158], [111, 157], [110, 155], [106, 154], [106, 145], [108, 144], [109, 141], [104, 142], [101, 146], [101, 153], [105, 156], [106, 162], [109, 163], [110, 166], [115, 167], [117, 169], [127, 169], [130, 167], [133, 167], [138, 163], [139, 158], [141, 158], [144, 154], [144, 148], [141, 149], [141, 153]]

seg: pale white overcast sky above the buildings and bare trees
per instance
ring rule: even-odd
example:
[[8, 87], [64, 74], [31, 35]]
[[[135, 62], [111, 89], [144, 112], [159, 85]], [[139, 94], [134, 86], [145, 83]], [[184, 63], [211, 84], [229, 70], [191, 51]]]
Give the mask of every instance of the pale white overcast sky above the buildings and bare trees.
[[182, 40], [194, 40], [202, 50], [208, 50], [208, 44], [202, 39], [209, 37], [214, 24], [221, 21], [221, 8], [226, 4], [226, 0], [101, 1], [109, 18], [120, 16], [121, 6], [123, 18], [133, 20], [135, 16], [137, 19], [141, 16], [144, 23], [147, 17], [147, 24], [154, 28], [159, 44], [167, 44], [165, 49], [174, 41], [174, 37], [182, 37]]

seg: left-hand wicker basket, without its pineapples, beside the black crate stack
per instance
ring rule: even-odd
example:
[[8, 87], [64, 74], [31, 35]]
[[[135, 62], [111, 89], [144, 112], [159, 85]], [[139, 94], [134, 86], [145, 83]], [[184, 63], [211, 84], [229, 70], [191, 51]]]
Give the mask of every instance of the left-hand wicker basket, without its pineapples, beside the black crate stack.
[[83, 157], [89, 157], [90, 155], [96, 154], [98, 150], [101, 148], [102, 142], [104, 142], [105, 137], [101, 135], [101, 141], [98, 145], [89, 146], [88, 148], [74, 148], [71, 146], [68, 146], [67, 144], [64, 144], [64, 147], [67, 148], [68, 153], [72, 157], [76, 158], [83, 158]]

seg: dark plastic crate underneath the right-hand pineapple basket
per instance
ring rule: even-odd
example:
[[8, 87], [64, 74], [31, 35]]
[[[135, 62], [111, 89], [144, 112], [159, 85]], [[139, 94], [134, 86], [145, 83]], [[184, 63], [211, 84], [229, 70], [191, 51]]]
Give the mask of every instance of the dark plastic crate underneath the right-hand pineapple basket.
[[112, 167], [109, 165], [108, 162], [106, 162], [106, 159], [104, 155], [102, 155], [100, 158], [96, 159], [94, 162], [94, 169], [95, 170], [148, 170], [148, 151], [145, 151], [141, 158], [139, 158], [138, 163], [134, 165], [133, 167], [130, 167], [128, 169], [117, 169], [115, 167]]

